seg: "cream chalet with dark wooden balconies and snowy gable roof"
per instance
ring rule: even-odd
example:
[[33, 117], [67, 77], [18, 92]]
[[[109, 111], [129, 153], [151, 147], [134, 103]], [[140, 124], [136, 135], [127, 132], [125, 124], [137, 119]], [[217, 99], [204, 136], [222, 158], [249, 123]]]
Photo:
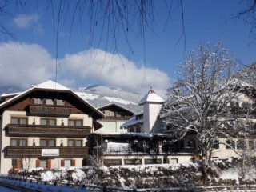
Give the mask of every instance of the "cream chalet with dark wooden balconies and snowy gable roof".
[[105, 115], [57, 82], [47, 81], [0, 104], [0, 173], [84, 166], [97, 119]]

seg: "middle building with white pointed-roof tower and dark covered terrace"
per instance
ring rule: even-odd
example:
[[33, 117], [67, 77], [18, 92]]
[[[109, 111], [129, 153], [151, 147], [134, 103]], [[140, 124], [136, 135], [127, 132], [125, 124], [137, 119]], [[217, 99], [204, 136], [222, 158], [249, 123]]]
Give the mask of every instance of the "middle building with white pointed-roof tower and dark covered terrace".
[[97, 159], [102, 160], [105, 166], [190, 161], [194, 154], [198, 154], [193, 137], [173, 143], [170, 134], [162, 133], [158, 115], [163, 102], [154, 90], [150, 90], [138, 103], [143, 110], [121, 125], [127, 133], [106, 131], [101, 134], [96, 131], [91, 134], [91, 154], [102, 155]]

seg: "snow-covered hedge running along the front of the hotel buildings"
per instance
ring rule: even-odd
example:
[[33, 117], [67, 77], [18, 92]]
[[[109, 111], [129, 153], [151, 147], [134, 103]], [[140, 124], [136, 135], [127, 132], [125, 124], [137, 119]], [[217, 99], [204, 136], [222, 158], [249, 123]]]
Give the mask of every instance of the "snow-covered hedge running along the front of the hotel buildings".
[[[208, 166], [212, 186], [255, 184], [255, 160], [216, 159]], [[86, 166], [82, 168], [27, 171], [30, 178], [46, 182], [78, 185], [150, 188], [170, 186], [201, 186], [200, 163], [147, 166]], [[22, 174], [22, 172], [20, 173]], [[24, 173], [23, 173], [24, 174]]]

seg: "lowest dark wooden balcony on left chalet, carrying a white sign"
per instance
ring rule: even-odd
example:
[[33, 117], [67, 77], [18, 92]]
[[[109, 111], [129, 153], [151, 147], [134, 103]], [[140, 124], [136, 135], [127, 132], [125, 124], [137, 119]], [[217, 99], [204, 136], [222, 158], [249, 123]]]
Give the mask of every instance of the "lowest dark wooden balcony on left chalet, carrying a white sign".
[[[44, 155], [42, 150], [58, 150], [58, 155]], [[88, 149], [85, 146], [6, 146], [5, 158], [86, 158]]]

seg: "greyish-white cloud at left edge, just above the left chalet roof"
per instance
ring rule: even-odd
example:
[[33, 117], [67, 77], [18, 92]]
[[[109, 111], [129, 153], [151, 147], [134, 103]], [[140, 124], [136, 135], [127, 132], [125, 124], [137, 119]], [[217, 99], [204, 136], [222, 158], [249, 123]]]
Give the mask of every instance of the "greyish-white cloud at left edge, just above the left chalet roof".
[[38, 45], [0, 44], [0, 86], [26, 89], [54, 76], [54, 60]]

